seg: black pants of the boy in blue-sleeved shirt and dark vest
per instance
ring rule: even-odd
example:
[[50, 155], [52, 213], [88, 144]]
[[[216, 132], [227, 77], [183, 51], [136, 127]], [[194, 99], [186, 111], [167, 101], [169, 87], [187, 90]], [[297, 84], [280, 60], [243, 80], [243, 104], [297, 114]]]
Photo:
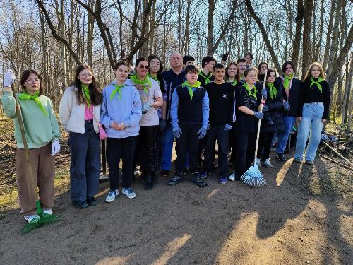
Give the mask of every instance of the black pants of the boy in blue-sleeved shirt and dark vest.
[[182, 134], [177, 138], [177, 154], [175, 170], [183, 172], [186, 162], [186, 153], [189, 151], [189, 168], [191, 172], [198, 171], [198, 146], [200, 140], [198, 139], [198, 130], [200, 124], [179, 124]]

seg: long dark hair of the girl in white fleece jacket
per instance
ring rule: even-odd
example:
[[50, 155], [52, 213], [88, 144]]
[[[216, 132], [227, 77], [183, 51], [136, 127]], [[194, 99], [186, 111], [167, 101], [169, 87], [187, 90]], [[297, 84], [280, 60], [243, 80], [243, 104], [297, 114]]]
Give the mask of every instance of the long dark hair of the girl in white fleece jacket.
[[[76, 68], [75, 80], [71, 84], [71, 86], [75, 86], [76, 88], [78, 88], [76, 93], [78, 105], [83, 104], [85, 102], [85, 98], [83, 97], [82, 93], [81, 81], [80, 79], [78, 79], [80, 72], [84, 69], [88, 69], [92, 72], [92, 68], [88, 64], [80, 64]], [[97, 81], [95, 81], [95, 76], [92, 76], [92, 83], [90, 83], [88, 89], [90, 90], [90, 101], [92, 105], [100, 105], [100, 103], [102, 103], [103, 101], [103, 94], [102, 90], [100, 89], [100, 85], [97, 83]]]

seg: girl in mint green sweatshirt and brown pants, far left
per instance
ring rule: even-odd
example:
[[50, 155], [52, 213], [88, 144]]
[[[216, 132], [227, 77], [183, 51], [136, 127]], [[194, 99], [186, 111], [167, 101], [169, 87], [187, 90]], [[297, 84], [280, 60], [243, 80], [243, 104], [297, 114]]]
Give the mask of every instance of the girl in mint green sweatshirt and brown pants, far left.
[[[7, 117], [13, 119], [15, 124], [15, 139], [17, 143], [16, 154], [16, 180], [18, 187], [18, 200], [20, 214], [28, 223], [40, 220], [36, 213], [36, 190], [32, 187], [28, 164], [25, 160], [25, 149], [20, 132], [20, 124], [16, 117], [16, 100], [13, 97], [11, 84], [16, 76], [8, 70], [4, 74], [4, 95], [1, 104]], [[40, 204], [44, 213], [53, 214], [54, 205], [54, 155], [60, 151], [60, 130], [56, 119], [52, 101], [42, 95], [42, 77], [35, 70], [25, 70], [20, 77], [22, 93], [17, 97], [20, 103], [20, 112], [23, 118], [25, 139], [28, 143], [30, 163], [34, 171], [37, 187], [39, 189]]]

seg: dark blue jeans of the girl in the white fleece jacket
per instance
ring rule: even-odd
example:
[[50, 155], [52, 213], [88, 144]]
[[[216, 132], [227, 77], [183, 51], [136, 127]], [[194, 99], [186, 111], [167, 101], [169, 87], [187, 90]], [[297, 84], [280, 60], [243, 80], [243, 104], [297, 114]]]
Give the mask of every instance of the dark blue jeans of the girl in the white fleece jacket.
[[70, 132], [71, 199], [85, 201], [98, 192], [100, 178], [100, 137], [93, 129], [93, 120], [85, 121], [85, 133]]

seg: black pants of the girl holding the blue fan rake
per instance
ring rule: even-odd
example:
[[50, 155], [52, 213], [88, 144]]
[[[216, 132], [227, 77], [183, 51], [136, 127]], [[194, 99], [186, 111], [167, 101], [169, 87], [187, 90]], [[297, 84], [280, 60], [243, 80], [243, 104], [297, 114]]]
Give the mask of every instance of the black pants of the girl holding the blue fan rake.
[[237, 133], [237, 167], [235, 175], [240, 178], [249, 169], [255, 155], [256, 133]]

